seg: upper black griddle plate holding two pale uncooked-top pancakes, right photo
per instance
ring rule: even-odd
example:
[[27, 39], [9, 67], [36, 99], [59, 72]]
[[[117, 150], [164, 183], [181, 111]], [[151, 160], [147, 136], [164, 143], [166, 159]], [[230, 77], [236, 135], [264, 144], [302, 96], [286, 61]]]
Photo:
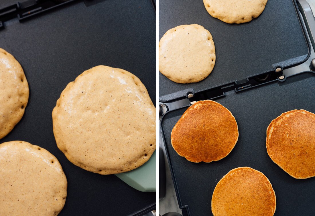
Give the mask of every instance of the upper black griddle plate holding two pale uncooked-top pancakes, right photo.
[[211, 74], [198, 83], [175, 83], [159, 73], [159, 101], [185, 97], [233, 80], [243, 80], [273, 69], [298, 64], [308, 58], [309, 44], [292, 0], [268, 0], [263, 13], [244, 24], [215, 19], [203, 1], [159, 1], [159, 39], [178, 25], [198, 24], [215, 42], [216, 61]]

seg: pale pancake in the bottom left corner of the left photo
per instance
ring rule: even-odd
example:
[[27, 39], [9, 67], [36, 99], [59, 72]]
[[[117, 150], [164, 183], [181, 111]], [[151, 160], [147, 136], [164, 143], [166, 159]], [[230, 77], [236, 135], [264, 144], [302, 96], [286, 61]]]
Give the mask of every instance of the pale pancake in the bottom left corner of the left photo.
[[24, 141], [0, 144], [0, 215], [57, 215], [67, 179], [57, 158]]

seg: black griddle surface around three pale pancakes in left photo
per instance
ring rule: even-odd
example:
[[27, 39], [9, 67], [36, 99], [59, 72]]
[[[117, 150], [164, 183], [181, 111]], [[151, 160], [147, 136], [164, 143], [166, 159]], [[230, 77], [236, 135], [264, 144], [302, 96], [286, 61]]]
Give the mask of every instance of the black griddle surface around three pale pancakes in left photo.
[[155, 103], [155, 12], [150, 0], [83, 1], [19, 23], [5, 23], [0, 47], [22, 65], [30, 88], [25, 114], [0, 143], [28, 141], [51, 152], [68, 180], [60, 215], [141, 215], [155, 193], [140, 192], [115, 175], [83, 170], [58, 149], [51, 113], [61, 91], [84, 70], [108, 65], [135, 74]]

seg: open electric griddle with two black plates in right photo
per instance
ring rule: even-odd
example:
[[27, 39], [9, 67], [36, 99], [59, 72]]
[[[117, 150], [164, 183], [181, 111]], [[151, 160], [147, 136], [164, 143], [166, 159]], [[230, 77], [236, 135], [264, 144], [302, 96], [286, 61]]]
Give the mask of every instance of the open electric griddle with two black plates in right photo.
[[[266, 129], [273, 119], [293, 109], [315, 113], [315, 73], [283, 74], [283, 69], [306, 61], [311, 51], [297, 3], [268, 0], [264, 12], [245, 24], [226, 24], [211, 17], [202, 1], [161, 0], [159, 7], [160, 38], [177, 25], [199, 24], [210, 31], [216, 47], [215, 67], [201, 82], [178, 84], [159, 74], [159, 101], [214, 100], [232, 112], [239, 130], [228, 156], [192, 163], [179, 156], [170, 141], [173, 127], [191, 104], [171, 111], [160, 104], [162, 137], [183, 215], [212, 215], [216, 184], [231, 169], [242, 166], [257, 169], [270, 180], [277, 198], [275, 215], [314, 215], [315, 178], [294, 179], [266, 151]], [[309, 13], [299, 7], [310, 21], [306, 27], [311, 36], [314, 17], [309, 19]]]

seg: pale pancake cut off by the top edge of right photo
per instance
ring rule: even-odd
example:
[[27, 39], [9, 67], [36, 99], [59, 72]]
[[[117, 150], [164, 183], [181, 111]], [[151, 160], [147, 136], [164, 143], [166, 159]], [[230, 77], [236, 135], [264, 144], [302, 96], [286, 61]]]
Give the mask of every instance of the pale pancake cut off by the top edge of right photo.
[[208, 13], [226, 23], [246, 23], [258, 17], [267, 0], [203, 0]]

